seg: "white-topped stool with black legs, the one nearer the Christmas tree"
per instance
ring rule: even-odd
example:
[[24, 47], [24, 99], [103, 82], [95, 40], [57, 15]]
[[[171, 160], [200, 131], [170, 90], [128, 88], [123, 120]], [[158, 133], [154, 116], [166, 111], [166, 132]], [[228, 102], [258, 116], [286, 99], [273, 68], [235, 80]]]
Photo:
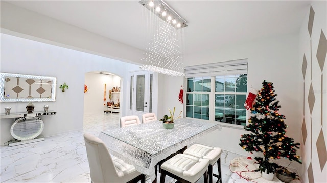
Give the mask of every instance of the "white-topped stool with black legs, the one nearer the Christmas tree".
[[[213, 182], [213, 177], [218, 178], [217, 182], [222, 183], [221, 179], [221, 164], [220, 164], [220, 156], [221, 156], [221, 148], [219, 147], [211, 147], [202, 144], [193, 144], [188, 147], [183, 154], [191, 155], [197, 158], [204, 158], [209, 160], [208, 166], [208, 176], [209, 182]], [[213, 173], [213, 166], [217, 162], [218, 167], [218, 175]]]

